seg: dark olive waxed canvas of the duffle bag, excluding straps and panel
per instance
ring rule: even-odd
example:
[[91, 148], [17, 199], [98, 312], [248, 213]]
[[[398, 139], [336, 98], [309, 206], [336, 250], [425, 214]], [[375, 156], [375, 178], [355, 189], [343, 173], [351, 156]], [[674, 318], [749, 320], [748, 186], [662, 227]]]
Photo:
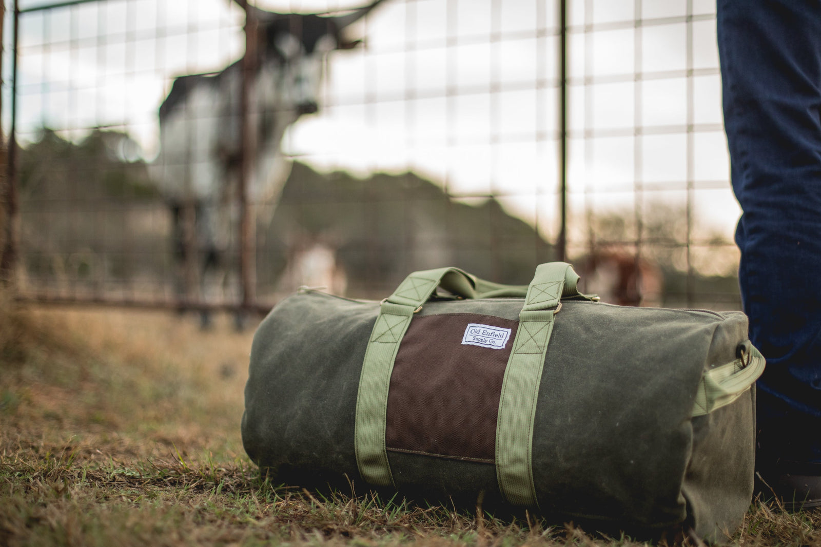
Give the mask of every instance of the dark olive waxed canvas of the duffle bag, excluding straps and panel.
[[[429, 301], [414, 319], [515, 322], [522, 303]], [[367, 488], [355, 456], [355, 411], [378, 312], [378, 302], [302, 292], [260, 324], [242, 438], [275, 482], [347, 487], [350, 479], [357, 491]], [[735, 360], [746, 333], [740, 312], [562, 302], [534, 422], [539, 511], [628, 532], [691, 526], [712, 540], [732, 534], [752, 497], [754, 391], [705, 416], [692, 412], [704, 371]], [[402, 493], [470, 502], [484, 492], [486, 503], [504, 505], [492, 462], [410, 450], [388, 450], [388, 460]]]

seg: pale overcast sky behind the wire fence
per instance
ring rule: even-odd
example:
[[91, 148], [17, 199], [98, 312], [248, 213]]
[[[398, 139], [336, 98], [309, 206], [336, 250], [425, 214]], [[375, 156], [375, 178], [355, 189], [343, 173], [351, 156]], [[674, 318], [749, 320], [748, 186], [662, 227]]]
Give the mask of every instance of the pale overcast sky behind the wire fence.
[[[258, 5], [307, 12], [361, 3]], [[639, 15], [652, 24], [639, 30], [620, 25], [634, 19], [635, 0], [568, 3], [571, 214], [629, 210], [636, 182], [647, 190], [644, 207], [681, 205], [689, 175], [696, 236], [732, 239], [739, 209], [727, 185], [714, 2], [692, 2], [689, 37], [685, 0], [643, 2]], [[108, 0], [24, 14], [21, 137], [33, 138], [43, 125], [77, 128], [80, 137], [84, 127], [122, 124], [152, 158], [157, 108], [173, 76], [241, 57], [242, 21], [227, 0]], [[553, 238], [556, 21], [556, 2], [546, 0], [388, 0], [352, 29], [366, 35], [367, 47], [330, 56], [320, 112], [292, 126], [283, 148], [315, 168], [410, 169], [454, 195], [500, 195], [511, 213]], [[598, 26], [585, 33], [585, 24]], [[639, 70], [645, 76], [637, 82]], [[584, 85], [585, 77], [601, 83]], [[7, 108], [4, 120], [7, 126]], [[690, 161], [688, 122], [695, 128]], [[731, 252], [727, 264], [733, 260]]]

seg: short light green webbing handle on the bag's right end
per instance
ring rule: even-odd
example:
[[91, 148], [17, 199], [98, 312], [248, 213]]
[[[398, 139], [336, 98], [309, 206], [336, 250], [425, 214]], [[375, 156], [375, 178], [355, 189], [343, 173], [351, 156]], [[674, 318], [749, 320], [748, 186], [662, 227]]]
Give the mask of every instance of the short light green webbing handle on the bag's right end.
[[764, 356], [747, 342], [741, 357], [704, 372], [695, 393], [693, 416], [704, 416], [717, 408], [724, 407], [759, 379], [764, 372]]

